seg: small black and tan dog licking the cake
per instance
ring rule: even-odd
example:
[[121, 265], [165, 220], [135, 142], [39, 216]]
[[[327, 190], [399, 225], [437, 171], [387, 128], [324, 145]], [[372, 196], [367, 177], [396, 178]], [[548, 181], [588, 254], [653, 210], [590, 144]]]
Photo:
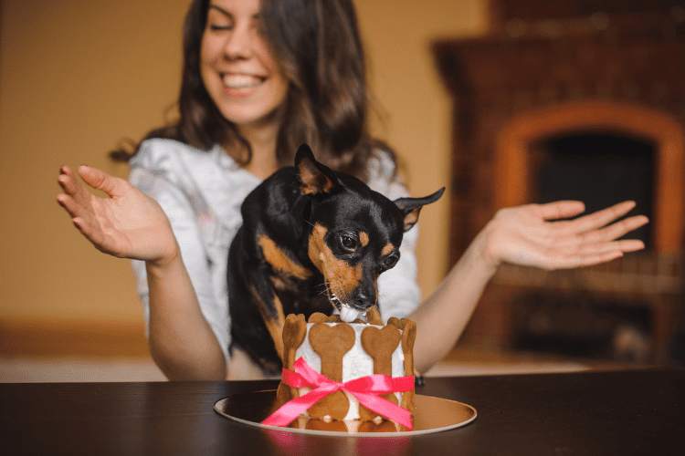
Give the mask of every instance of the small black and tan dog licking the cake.
[[349, 317], [374, 306], [378, 275], [399, 260], [403, 233], [444, 191], [392, 202], [300, 146], [295, 166], [276, 171], [241, 206], [227, 265], [230, 351], [278, 374], [285, 316], [330, 316], [336, 307]]

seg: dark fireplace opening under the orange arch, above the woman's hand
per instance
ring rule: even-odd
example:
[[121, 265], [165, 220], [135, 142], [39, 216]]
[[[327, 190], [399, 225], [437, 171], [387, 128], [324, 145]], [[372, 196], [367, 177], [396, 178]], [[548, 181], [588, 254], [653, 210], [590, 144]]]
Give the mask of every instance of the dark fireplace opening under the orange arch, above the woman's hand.
[[[655, 145], [613, 132], [591, 132], [541, 140], [533, 145], [540, 165], [536, 202], [580, 200], [585, 213], [633, 200], [652, 218]], [[651, 224], [627, 235], [651, 247]]]

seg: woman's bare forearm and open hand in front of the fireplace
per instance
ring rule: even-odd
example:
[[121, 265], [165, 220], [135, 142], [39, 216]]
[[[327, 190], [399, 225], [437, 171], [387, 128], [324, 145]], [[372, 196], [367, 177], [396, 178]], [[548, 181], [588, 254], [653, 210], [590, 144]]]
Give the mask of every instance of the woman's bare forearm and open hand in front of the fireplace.
[[644, 248], [641, 241], [616, 241], [648, 223], [643, 215], [612, 223], [633, 207], [634, 202], [621, 202], [573, 221], [555, 222], [550, 221], [584, 212], [585, 205], [527, 204], [498, 212], [442, 284], [409, 316], [419, 328], [416, 370], [426, 372], [448, 354], [501, 263], [564, 269], [604, 263]]

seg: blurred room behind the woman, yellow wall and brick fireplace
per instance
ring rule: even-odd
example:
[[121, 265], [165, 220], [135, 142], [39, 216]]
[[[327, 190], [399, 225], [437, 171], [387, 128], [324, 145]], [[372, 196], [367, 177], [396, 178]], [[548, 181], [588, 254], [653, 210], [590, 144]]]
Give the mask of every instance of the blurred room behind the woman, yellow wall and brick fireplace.
[[[189, 0], [0, 0], [0, 381], [161, 380], [130, 264], [58, 206], [59, 166], [163, 124]], [[671, 0], [354, 0], [374, 133], [423, 212], [429, 295], [501, 207], [633, 199], [644, 253], [573, 272], [505, 266], [432, 372], [682, 362], [685, 8]]]

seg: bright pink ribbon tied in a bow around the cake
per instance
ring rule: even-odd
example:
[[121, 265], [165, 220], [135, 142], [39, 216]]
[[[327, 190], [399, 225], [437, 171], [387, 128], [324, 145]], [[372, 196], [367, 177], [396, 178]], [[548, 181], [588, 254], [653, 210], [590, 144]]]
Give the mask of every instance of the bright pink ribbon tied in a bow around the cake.
[[309, 388], [311, 391], [304, 396], [292, 399], [273, 412], [261, 424], [267, 426], [288, 426], [320, 399], [335, 391], [346, 391], [359, 400], [367, 409], [393, 420], [408, 430], [413, 430], [411, 413], [409, 410], [381, 398], [379, 395], [404, 392], [414, 389], [414, 376], [389, 377], [374, 374], [367, 377], [355, 378], [345, 383], [333, 381], [310, 367], [307, 362], [299, 358], [293, 364], [292, 370], [283, 369], [282, 381], [293, 388]]

